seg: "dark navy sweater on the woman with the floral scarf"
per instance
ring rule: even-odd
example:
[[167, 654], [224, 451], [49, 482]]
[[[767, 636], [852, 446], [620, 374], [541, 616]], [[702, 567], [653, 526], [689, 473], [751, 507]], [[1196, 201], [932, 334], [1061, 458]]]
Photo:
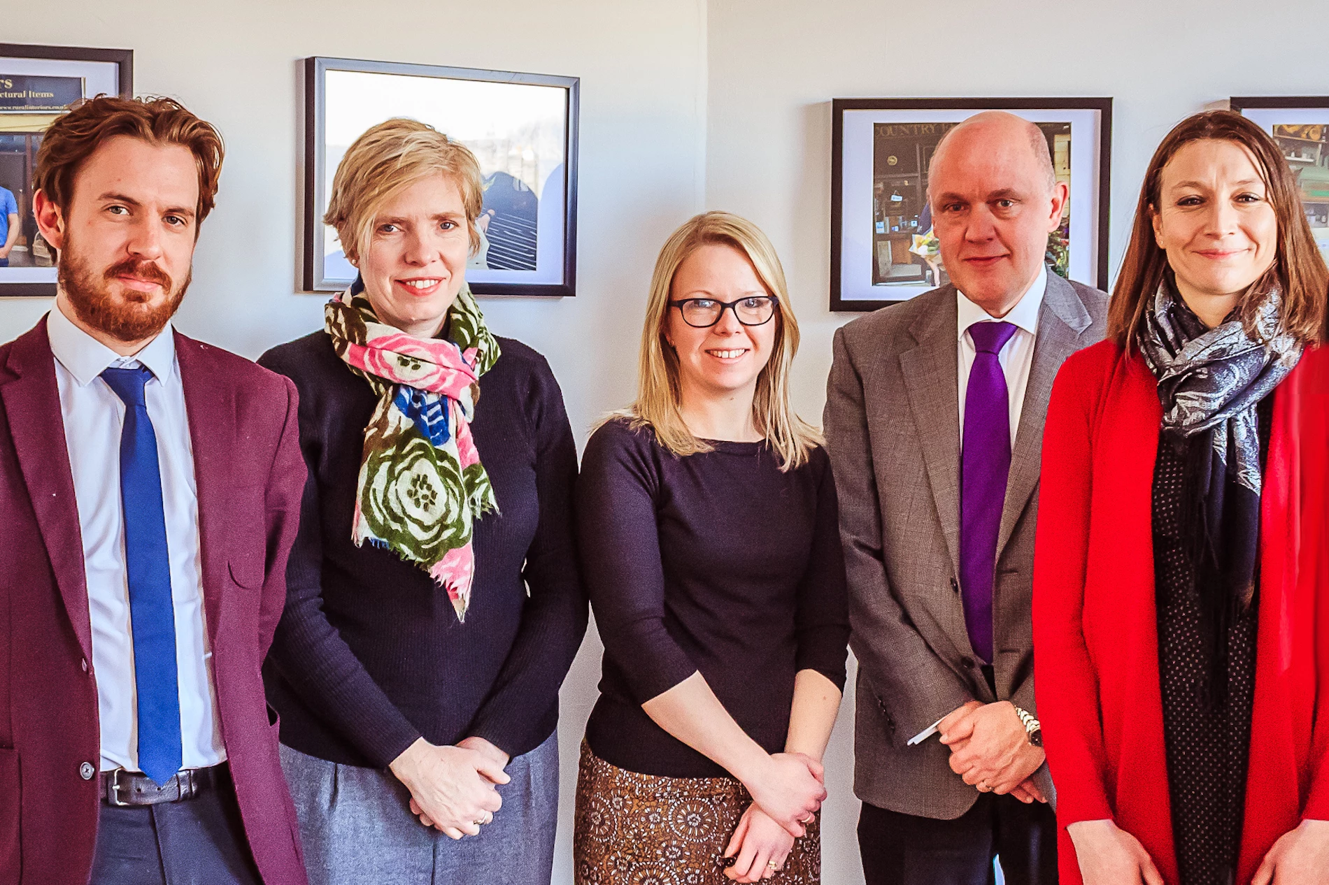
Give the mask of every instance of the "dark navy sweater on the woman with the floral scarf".
[[498, 513], [474, 526], [465, 623], [419, 566], [351, 541], [364, 427], [377, 403], [368, 383], [326, 332], [259, 359], [299, 389], [310, 470], [264, 667], [283, 744], [383, 768], [421, 736], [452, 744], [474, 735], [517, 756], [557, 726], [558, 687], [587, 618], [571, 526], [577, 449], [545, 359], [498, 342], [472, 421]]

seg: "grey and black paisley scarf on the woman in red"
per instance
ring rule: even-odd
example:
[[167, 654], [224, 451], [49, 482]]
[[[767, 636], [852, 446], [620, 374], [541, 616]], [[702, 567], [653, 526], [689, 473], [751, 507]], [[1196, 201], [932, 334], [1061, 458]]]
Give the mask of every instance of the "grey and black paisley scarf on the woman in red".
[[1282, 292], [1269, 288], [1247, 335], [1236, 312], [1215, 328], [1200, 322], [1175, 290], [1159, 286], [1139, 336], [1159, 381], [1163, 440], [1185, 462], [1181, 534], [1209, 678], [1201, 700], [1228, 696], [1228, 635], [1255, 599], [1260, 540], [1260, 419], [1257, 407], [1301, 359], [1301, 344], [1280, 322]]

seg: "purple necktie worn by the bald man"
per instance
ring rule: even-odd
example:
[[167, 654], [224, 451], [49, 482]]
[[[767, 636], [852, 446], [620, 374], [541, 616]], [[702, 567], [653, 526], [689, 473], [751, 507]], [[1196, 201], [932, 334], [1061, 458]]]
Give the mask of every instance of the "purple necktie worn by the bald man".
[[1015, 327], [974, 323], [974, 365], [965, 388], [965, 448], [960, 458], [960, 589], [974, 652], [993, 660], [993, 573], [997, 532], [1010, 473], [1010, 397], [997, 355]]

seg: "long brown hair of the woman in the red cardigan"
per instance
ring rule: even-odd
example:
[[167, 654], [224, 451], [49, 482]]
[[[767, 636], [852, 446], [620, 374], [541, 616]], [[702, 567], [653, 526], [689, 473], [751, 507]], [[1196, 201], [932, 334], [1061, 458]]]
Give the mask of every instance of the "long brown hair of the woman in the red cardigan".
[[[1159, 206], [1163, 167], [1183, 145], [1205, 138], [1231, 141], [1251, 151], [1278, 219], [1278, 248], [1273, 264], [1248, 291], [1264, 291], [1269, 283], [1277, 282], [1282, 288], [1282, 328], [1302, 343], [1324, 340], [1329, 268], [1325, 267], [1310, 234], [1310, 225], [1306, 223], [1296, 178], [1273, 138], [1233, 110], [1208, 110], [1187, 117], [1154, 151], [1140, 189], [1140, 201], [1135, 207], [1131, 242], [1126, 247], [1122, 272], [1107, 307], [1107, 338], [1123, 349], [1130, 349], [1144, 327], [1150, 302], [1168, 266], [1167, 252], [1154, 238], [1154, 214]], [[1241, 323], [1252, 335], [1259, 300], [1244, 298], [1241, 302]]]

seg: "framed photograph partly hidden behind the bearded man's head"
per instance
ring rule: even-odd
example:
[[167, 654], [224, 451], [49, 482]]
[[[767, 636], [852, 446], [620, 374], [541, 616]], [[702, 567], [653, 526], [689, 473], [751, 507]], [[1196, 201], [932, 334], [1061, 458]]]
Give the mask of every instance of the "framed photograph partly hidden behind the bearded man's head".
[[132, 49], [0, 43], [0, 295], [56, 294], [54, 250], [32, 215], [43, 133], [81, 98], [133, 93]]

